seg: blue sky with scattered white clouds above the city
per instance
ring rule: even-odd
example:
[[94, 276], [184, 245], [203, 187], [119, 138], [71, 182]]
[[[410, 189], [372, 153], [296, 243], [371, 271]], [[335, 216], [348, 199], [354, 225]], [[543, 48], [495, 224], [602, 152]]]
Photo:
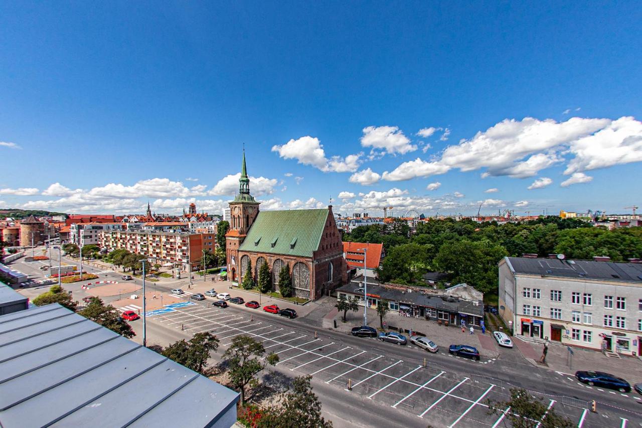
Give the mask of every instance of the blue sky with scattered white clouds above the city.
[[344, 3], [0, 4], [0, 207], [642, 202], [639, 4]]

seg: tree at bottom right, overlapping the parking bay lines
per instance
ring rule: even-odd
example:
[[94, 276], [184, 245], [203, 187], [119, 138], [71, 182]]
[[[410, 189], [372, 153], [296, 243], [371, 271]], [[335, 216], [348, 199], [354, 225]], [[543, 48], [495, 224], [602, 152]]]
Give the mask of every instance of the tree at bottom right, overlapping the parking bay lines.
[[514, 428], [571, 428], [575, 424], [548, 408], [541, 398], [535, 398], [525, 389], [511, 388], [510, 400], [488, 401], [489, 415], [503, 415]]

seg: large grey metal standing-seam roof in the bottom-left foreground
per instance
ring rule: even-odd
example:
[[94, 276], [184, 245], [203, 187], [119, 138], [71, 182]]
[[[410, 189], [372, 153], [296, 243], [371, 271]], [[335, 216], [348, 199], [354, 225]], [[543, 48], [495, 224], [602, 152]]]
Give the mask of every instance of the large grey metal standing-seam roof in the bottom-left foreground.
[[238, 397], [58, 304], [0, 316], [3, 428], [229, 426]]

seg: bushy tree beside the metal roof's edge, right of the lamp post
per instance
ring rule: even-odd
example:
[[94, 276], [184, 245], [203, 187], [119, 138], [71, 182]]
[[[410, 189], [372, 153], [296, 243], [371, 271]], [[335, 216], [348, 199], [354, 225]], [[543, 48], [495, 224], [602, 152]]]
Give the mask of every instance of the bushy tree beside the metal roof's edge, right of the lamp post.
[[176, 341], [160, 353], [188, 369], [207, 375], [207, 360], [210, 353], [218, 349], [218, 343], [219, 340], [210, 332], [196, 333], [189, 341]]

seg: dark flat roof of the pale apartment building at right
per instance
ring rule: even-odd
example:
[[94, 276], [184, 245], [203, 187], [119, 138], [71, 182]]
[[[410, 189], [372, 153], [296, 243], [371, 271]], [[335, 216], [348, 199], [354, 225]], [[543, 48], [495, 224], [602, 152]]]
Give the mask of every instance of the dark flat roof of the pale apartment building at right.
[[512, 271], [542, 276], [642, 283], [642, 263], [506, 257]]

